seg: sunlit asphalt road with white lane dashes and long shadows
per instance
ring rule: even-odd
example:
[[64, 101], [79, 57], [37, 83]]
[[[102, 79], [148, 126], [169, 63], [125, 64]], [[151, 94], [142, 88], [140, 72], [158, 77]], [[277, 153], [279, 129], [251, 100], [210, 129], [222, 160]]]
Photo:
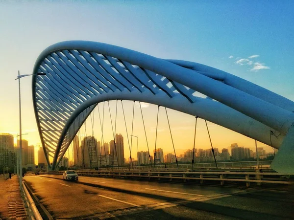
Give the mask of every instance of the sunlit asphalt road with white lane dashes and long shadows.
[[126, 179], [25, 176], [54, 219], [294, 219], [294, 193]]

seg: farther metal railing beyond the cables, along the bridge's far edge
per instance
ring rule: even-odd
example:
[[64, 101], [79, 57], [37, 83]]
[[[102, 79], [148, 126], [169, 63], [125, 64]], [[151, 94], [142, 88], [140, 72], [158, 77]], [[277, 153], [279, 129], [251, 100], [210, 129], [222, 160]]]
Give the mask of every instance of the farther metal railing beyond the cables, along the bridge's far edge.
[[[270, 168], [272, 160], [264, 160], [264, 161], [259, 161], [259, 167], [260, 168]], [[236, 168], [236, 169], [244, 169], [244, 168], [255, 168], [257, 167], [257, 162], [256, 161], [239, 161], [239, 162], [218, 162], [218, 168]], [[169, 164], [169, 165], [155, 165], [155, 169], [177, 169], [176, 164]], [[215, 163], [195, 163], [193, 165], [194, 169], [201, 169], [201, 168], [216, 168]], [[114, 170], [129, 170], [128, 166], [125, 167], [108, 167], [108, 168], [100, 168], [100, 171], [108, 171], [110, 169]], [[150, 165], [148, 166], [134, 166], [132, 167], [133, 170], [151, 170], [153, 169], [153, 166], [151, 168]], [[179, 164], [179, 169], [192, 169], [192, 163], [190, 164]], [[91, 169], [87, 169], [84, 171], [89, 171]], [[92, 169], [93, 170], [93, 169]]]

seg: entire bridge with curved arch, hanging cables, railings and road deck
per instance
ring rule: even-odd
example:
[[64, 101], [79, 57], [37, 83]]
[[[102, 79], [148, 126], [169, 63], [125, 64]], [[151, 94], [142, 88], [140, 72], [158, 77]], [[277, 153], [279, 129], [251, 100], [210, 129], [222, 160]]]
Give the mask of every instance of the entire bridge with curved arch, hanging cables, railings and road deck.
[[[28, 173], [24, 177], [23, 216], [37, 220], [293, 218], [293, 101], [210, 66], [159, 59], [97, 42], [53, 44], [40, 54], [33, 73], [33, 106], [49, 169], [41, 175]], [[128, 122], [131, 130], [127, 129], [125, 100], [133, 101], [129, 110], [132, 119]], [[115, 103], [112, 105], [115, 110], [111, 110], [110, 101]], [[150, 154], [153, 143], [148, 141], [145, 126], [148, 118], [143, 114], [142, 103], [157, 105], [153, 159]], [[133, 132], [135, 104], [140, 107], [150, 165], [139, 163], [131, 167], [133, 138], [138, 141]], [[130, 150], [128, 167], [123, 166], [124, 156], [118, 156], [123, 142], [116, 136], [118, 105], [122, 107]], [[167, 108], [190, 114], [195, 120], [190, 164], [178, 164]], [[160, 109], [166, 113], [176, 164], [155, 162]], [[107, 110], [113, 136], [112, 158], [108, 159], [103, 139]], [[95, 111], [98, 111], [101, 146], [94, 138]], [[205, 120], [215, 163], [194, 160], [198, 118]], [[92, 135], [89, 143], [87, 119], [92, 127], [88, 131]], [[206, 121], [279, 151], [273, 161], [217, 161]], [[82, 148], [79, 145], [83, 125], [87, 143]], [[91, 153], [93, 149], [95, 154]], [[74, 160], [80, 163], [75, 167], [78, 168], [75, 182], [63, 180], [63, 172], [56, 171], [70, 150], [75, 151]], [[106, 168], [101, 166], [102, 151], [109, 165]], [[78, 159], [86, 154], [90, 169], [84, 169], [84, 159]], [[7, 184], [7, 189], [16, 192], [16, 176], [6, 182], [0, 180], [1, 184]], [[9, 213], [16, 202], [10, 199], [8, 203]], [[11, 215], [17, 216], [18, 212]]]

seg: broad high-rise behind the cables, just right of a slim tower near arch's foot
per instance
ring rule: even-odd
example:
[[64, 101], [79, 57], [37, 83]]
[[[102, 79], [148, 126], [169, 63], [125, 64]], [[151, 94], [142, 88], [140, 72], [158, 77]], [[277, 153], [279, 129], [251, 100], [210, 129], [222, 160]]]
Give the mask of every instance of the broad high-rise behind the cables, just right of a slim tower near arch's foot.
[[94, 136], [84, 137], [81, 146], [82, 168], [98, 167], [97, 139]]

